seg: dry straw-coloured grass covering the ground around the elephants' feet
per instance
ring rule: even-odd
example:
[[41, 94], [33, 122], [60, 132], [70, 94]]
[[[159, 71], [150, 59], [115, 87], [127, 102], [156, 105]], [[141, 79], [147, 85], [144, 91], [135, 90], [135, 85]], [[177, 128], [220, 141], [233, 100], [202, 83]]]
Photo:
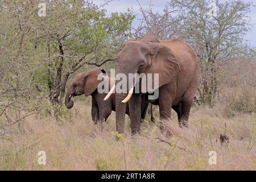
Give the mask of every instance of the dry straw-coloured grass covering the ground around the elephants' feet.
[[[193, 110], [193, 109], [192, 109]], [[255, 170], [256, 115], [223, 118], [217, 110], [201, 108], [191, 115], [188, 129], [180, 129], [175, 112], [167, 128], [174, 137], [159, 132], [147, 116], [143, 134], [130, 137], [129, 119], [125, 138], [115, 140], [114, 114], [103, 126], [90, 119], [90, 106], [76, 102], [65, 119], [40, 119], [35, 115], [13, 127], [0, 140], [3, 170]], [[155, 111], [155, 117], [158, 117]], [[221, 147], [225, 131], [230, 143]], [[162, 139], [160, 141], [159, 139]], [[46, 151], [46, 165], [38, 164], [38, 152]], [[217, 152], [217, 164], [208, 163], [209, 151]]]

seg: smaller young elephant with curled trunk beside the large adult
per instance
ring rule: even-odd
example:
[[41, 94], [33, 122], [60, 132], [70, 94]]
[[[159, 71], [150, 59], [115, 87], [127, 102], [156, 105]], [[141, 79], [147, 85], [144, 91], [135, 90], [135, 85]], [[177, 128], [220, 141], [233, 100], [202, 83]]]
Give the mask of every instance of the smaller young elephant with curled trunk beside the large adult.
[[[112, 113], [112, 110], [115, 111], [115, 94], [109, 98], [109, 100], [104, 101], [107, 93], [98, 93], [97, 86], [101, 82], [101, 80], [97, 80], [99, 74], [105, 73], [104, 70], [101, 69], [91, 69], [84, 73], [79, 73], [73, 78], [71, 85], [68, 88], [67, 94], [65, 96], [65, 106], [68, 109], [73, 107], [72, 97], [81, 96], [85, 94], [85, 96], [92, 96], [92, 119], [94, 123], [98, 121], [106, 121], [109, 115]], [[110, 90], [110, 77], [109, 78], [109, 90]], [[146, 97], [142, 97], [141, 109], [142, 114], [141, 118], [144, 119], [146, 116], [148, 107], [148, 102], [146, 101]], [[129, 115], [129, 106], [126, 105], [126, 114]], [[153, 118], [154, 119], [154, 118]], [[151, 114], [152, 120], [152, 114]]]

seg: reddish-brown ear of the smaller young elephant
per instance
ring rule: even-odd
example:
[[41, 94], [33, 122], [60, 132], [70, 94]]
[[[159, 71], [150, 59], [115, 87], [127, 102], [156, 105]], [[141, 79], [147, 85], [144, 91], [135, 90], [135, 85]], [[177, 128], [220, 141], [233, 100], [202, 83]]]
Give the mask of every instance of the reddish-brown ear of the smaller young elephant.
[[84, 78], [84, 94], [86, 97], [92, 94], [101, 82], [101, 80], [97, 80], [99, 74], [102, 74], [100, 69], [92, 69]]

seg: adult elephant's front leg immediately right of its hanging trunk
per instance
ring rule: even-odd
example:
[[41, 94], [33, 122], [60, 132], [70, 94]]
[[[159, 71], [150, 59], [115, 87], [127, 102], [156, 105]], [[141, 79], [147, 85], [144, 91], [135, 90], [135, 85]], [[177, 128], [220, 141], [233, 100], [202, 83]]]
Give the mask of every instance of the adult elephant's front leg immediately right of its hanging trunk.
[[129, 100], [131, 135], [141, 134], [141, 95], [134, 93]]

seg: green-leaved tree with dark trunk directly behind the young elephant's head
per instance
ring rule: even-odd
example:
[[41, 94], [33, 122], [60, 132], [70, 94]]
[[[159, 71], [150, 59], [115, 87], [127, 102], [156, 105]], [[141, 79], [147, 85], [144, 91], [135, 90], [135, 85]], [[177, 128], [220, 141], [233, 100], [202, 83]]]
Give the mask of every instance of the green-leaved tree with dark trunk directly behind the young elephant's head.
[[46, 44], [44, 63], [53, 103], [62, 103], [70, 75], [84, 65], [100, 67], [114, 61], [118, 47], [130, 36], [134, 19], [130, 11], [109, 17], [105, 13], [88, 1], [51, 1], [47, 16], [38, 18], [44, 36], [36, 42], [39, 46]]

